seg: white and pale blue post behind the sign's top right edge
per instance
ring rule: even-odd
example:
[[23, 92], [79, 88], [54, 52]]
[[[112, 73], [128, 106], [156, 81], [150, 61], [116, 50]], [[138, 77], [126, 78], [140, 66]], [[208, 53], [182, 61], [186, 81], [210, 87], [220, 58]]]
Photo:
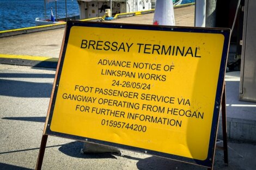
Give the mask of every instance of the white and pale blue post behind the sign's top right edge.
[[194, 26], [205, 27], [206, 0], [196, 0]]

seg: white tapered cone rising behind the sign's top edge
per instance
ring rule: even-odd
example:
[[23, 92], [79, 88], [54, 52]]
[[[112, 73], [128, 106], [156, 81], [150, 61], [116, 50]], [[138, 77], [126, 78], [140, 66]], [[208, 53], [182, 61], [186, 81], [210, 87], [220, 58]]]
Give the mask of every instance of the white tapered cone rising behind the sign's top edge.
[[175, 26], [172, 0], [156, 1], [153, 24], [162, 26]]

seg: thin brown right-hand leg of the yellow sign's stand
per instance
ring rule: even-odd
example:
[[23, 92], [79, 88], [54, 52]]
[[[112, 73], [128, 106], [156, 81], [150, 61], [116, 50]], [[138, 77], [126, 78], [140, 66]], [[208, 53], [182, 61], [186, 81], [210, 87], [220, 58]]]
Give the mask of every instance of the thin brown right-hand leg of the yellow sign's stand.
[[227, 114], [226, 114], [226, 90], [224, 83], [224, 91], [222, 95], [221, 102], [221, 112], [222, 112], [222, 136], [223, 136], [223, 152], [224, 152], [224, 163], [228, 165], [228, 141], [227, 141]]

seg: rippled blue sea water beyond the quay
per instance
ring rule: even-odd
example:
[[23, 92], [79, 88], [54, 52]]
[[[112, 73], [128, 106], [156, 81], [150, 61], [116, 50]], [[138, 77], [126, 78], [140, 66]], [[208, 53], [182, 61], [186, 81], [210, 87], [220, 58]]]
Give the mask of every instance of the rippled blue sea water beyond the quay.
[[[47, 0], [45, 0], [47, 2]], [[57, 0], [46, 3], [44, 0], [0, 0], [0, 31], [33, 27], [35, 26], [35, 18], [51, 19], [51, 8], [56, 18], [66, 16], [65, 1], [67, 7], [67, 15], [79, 15], [78, 3], [76, 0]], [[182, 4], [191, 3], [194, 0], [183, 0]]]

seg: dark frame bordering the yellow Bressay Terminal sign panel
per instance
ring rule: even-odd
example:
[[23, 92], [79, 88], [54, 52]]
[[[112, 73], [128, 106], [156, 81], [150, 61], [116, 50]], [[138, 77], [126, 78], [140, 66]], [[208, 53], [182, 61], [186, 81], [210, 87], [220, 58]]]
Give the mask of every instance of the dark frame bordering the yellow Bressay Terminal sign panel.
[[[217, 91], [216, 91], [214, 114], [213, 114], [212, 125], [211, 125], [210, 142], [209, 142], [209, 150], [208, 150], [207, 159], [202, 161], [202, 160], [197, 160], [197, 159], [185, 158], [185, 157], [178, 156], [178, 155], [156, 152], [155, 150], [149, 150], [147, 148], [138, 148], [138, 147], [133, 147], [133, 146], [127, 146], [124, 144], [95, 140], [94, 138], [88, 138], [88, 137], [82, 137], [82, 136], [76, 136], [76, 135], [70, 135], [70, 134], [63, 134], [63, 133], [59, 133], [56, 131], [51, 131], [50, 125], [51, 125], [52, 116], [53, 116], [54, 104], [56, 102], [56, 96], [58, 93], [58, 85], [59, 85], [60, 77], [62, 75], [63, 64], [65, 62], [64, 61], [65, 53], [66, 53], [66, 48], [67, 48], [68, 42], [69, 42], [70, 30], [73, 26], [95, 27], [95, 28], [114, 28], [114, 29], [135, 29], [135, 30], [159, 30], [159, 31], [163, 31], [163, 32], [192, 32], [192, 33], [222, 34], [224, 36], [224, 43], [223, 43], [224, 46], [223, 46], [223, 51], [222, 51], [220, 73], [218, 74]], [[225, 75], [225, 67], [226, 67], [226, 63], [227, 63], [227, 54], [228, 54], [228, 48], [229, 48], [229, 36], [230, 36], [229, 29], [219, 29], [219, 28], [208, 29], [208, 28], [194, 28], [194, 27], [169, 27], [169, 26], [150, 26], [150, 25], [137, 25], [137, 24], [119, 24], [119, 23], [113, 24], [113, 23], [100, 23], [100, 22], [68, 21], [67, 25], [66, 25], [64, 39], [63, 39], [62, 50], [60, 52], [60, 59], [58, 62], [56, 78], [55, 78], [54, 84], [53, 84], [53, 91], [52, 91], [52, 96], [51, 96], [51, 100], [50, 100], [50, 105], [48, 108], [48, 114], [47, 114], [47, 118], [46, 118], [46, 124], [45, 124], [44, 134], [42, 137], [41, 147], [44, 147], [44, 145], [46, 144], [47, 135], [53, 135], [53, 136], [71, 138], [71, 139], [79, 140], [79, 141], [104, 144], [106, 146], [123, 148], [123, 149], [132, 150], [132, 151], [139, 152], [139, 153], [147, 153], [150, 155], [161, 156], [163, 158], [178, 160], [178, 161], [182, 161], [182, 162], [187, 162], [187, 163], [192, 163], [192, 164], [199, 165], [199, 166], [212, 168], [214, 154], [215, 154], [215, 144], [216, 144], [216, 136], [217, 136], [217, 128], [218, 128], [218, 120], [219, 120], [218, 118], [219, 118], [221, 102], [222, 102], [222, 94], [224, 91], [224, 75]], [[44, 141], [43, 141], [43, 138], [44, 138]], [[42, 148], [41, 154], [43, 157], [44, 148]], [[38, 167], [40, 167], [40, 165]]]

